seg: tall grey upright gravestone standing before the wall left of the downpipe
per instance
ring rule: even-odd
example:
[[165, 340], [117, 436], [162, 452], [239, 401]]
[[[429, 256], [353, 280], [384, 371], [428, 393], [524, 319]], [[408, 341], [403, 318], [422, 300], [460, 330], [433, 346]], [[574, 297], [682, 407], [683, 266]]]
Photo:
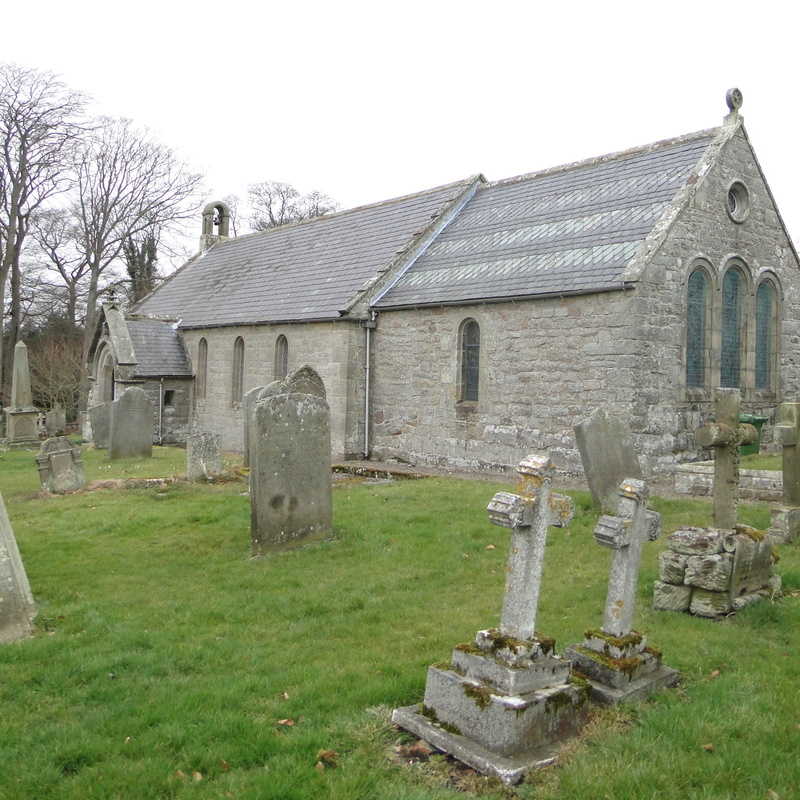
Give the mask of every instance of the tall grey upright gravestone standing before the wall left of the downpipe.
[[330, 409], [325, 386], [311, 367], [261, 392], [249, 449], [253, 554], [328, 536]]

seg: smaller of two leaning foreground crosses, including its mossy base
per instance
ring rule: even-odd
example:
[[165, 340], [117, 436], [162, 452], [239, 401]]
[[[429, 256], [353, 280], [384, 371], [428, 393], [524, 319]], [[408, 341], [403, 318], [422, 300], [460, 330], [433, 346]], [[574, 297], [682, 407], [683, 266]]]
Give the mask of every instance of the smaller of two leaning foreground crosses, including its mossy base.
[[594, 530], [597, 543], [613, 551], [603, 625], [588, 630], [582, 644], [565, 650], [573, 668], [588, 678], [592, 696], [607, 704], [642, 699], [675, 685], [680, 677], [633, 630], [642, 546], [653, 538], [647, 484], [623, 480], [617, 491], [616, 515], [601, 516]]

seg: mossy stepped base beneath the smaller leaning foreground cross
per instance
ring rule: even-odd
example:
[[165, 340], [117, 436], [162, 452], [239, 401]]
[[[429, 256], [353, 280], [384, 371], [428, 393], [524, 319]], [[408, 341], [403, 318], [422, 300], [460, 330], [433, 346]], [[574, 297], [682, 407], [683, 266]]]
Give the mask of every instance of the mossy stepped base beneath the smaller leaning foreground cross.
[[568, 647], [564, 655], [589, 682], [592, 699], [606, 705], [641, 700], [680, 679], [680, 673], [664, 666], [661, 653], [647, 647], [635, 631], [622, 637], [587, 631], [586, 639]]

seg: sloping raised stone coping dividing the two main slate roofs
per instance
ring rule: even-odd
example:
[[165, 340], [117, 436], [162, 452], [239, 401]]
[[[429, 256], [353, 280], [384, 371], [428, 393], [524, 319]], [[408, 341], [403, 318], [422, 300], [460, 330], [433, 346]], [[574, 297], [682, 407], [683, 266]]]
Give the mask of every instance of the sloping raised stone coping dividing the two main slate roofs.
[[340, 310], [342, 316], [352, 313], [359, 305], [374, 306], [405, 275], [415, 262], [431, 246], [436, 237], [461, 213], [464, 206], [472, 199], [475, 192], [486, 178], [480, 173], [472, 175], [453, 186], [460, 186], [461, 192], [442, 206], [431, 222], [423, 230], [414, 234], [406, 246], [397, 252], [396, 257], [386, 266], [381, 267], [360, 289], [350, 297]]

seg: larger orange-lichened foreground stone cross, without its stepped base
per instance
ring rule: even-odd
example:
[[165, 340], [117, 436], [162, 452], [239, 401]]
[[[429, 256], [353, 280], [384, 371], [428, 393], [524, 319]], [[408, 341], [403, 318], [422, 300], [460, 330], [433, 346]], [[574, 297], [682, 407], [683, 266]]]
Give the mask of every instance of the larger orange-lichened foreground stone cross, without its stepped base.
[[551, 494], [554, 470], [548, 456], [527, 456], [517, 472], [519, 494], [498, 492], [487, 511], [490, 522], [512, 530], [500, 632], [528, 640], [536, 626], [547, 529], [568, 525], [575, 506], [566, 495]]

